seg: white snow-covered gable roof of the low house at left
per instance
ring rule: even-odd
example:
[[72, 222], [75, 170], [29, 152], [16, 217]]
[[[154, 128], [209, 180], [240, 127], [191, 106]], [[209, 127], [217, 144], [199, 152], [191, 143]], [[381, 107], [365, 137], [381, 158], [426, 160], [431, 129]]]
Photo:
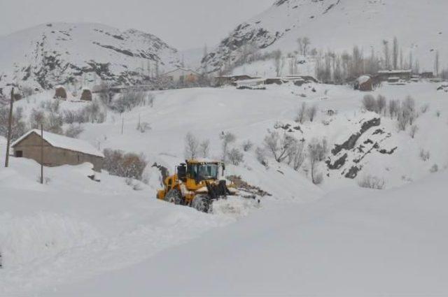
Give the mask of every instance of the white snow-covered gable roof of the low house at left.
[[[18, 143], [27, 138], [31, 133], [36, 133], [38, 136], [41, 136], [40, 130], [38, 129], [30, 130], [24, 135], [22, 135], [18, 140], [15, 140], [15, 142], [11, 145], [11, 147], [18, 145]], [[43, 139], [46, 142], [50, 143], [50, 145], [52, 145], [53, 147], [59, 147], [64, 150], [73, 150], [75, 152], [82, 152], [84, 154], [91, 154], [92, 156], [97, 157], [104, 157], [104, 154], [102, 152], [99, 152], [99, 150], [93, 147], [93, 145], [90, 145], [90, 143], [87, 143], [84, 140], [70, 138], [55, 133], [50, 133], [47, 131], [43, 131]]]

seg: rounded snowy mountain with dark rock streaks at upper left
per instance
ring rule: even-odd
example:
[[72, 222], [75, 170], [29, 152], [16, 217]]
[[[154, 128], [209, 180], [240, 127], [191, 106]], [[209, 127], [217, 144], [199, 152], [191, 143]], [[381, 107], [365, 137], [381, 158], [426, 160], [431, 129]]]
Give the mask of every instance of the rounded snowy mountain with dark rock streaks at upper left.
[[179, 63], [160, 38], [102, 24], [41, 24], [0, 37], [0, 88], [10, 83], [50, 89], [78, 81], [133, 84]]

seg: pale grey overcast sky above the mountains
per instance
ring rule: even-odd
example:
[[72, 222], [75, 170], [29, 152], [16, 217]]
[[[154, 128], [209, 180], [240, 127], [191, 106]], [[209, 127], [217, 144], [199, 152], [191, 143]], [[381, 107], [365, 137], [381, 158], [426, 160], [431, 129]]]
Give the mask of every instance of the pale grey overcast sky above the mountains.
[[0, 34], [45, 22], [100, 22], [140, 29], [178, 48], [216, 45], [274, 0], [0, 0]]

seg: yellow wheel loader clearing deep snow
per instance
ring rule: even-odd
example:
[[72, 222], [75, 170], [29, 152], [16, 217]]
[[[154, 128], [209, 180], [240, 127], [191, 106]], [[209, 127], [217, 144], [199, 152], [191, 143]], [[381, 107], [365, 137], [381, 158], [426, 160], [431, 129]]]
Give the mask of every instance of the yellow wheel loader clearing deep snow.
[[211, 212], [213, 201], [237, 194], [228, 187], [224, 176], [225, 166], [221, 161], [192, 159], [176, 167], [176, 174], [164, 181], [157, 198], [176, 205], [188, 205], [202, 212]]

